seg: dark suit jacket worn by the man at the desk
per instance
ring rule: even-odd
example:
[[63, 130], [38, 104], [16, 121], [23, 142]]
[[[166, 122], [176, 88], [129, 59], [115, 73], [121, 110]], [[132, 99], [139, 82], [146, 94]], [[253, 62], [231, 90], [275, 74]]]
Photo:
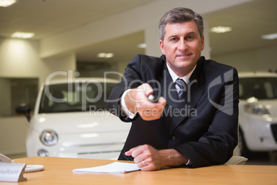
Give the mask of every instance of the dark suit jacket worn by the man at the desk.
[[[154, 95], [167, 101], [160, 119], [144, 121], [137, 114], [128, 119], [121, 111], [120, 97], [128, 88], [148, 83]], [[175, 148], [192, 162], [192, 168], [224, 164], [238, 142], [238, 74], [235, 68], [201, 57], [187, 83], [185, 101], [178, 95], [165, 56], [136, 55], [125, 68], [107, 101], [111, 113], [132, 121], [119, 159], [132, 160], [124, 152], [150, 144], [156, 149]]]

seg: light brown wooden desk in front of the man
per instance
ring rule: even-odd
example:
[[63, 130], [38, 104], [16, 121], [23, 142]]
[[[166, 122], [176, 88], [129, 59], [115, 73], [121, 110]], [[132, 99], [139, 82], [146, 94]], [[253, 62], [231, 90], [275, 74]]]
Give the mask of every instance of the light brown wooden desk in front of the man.
[[161, 171], [134, 171], [125, 174], [73, 173], [114, 161], [60, 157], [28, 157], [17, 163], [41, 164], [44, 171], [24, 173], [26, 182], [0, 184], [277, 184], [277, 166], [220, 165], [203, 168], [167, 168]]

